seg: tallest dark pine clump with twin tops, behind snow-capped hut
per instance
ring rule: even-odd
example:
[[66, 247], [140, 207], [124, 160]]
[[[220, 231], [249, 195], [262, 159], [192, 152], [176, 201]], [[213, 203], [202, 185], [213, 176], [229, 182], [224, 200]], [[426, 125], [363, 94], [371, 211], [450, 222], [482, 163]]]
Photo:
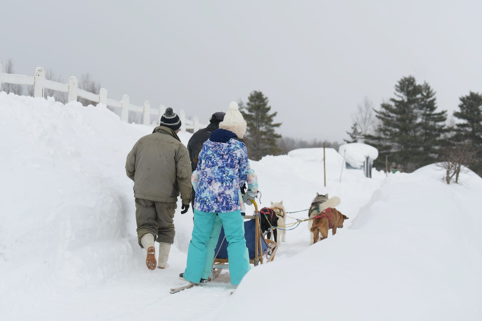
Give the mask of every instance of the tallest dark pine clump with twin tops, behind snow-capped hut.
[[437, 160], [442, 134], [447, 130], [446, 111], [435, 112], [435, 92], [427, 83], [417, 85], [413, 76], [398, 81], [395, 96], [375, 111], [380, 128], [365, 140], [382, 156], [375, 160], [376, 167], [383, 167], [383, 156], [388, 155], [389, 160], [411, 172]]

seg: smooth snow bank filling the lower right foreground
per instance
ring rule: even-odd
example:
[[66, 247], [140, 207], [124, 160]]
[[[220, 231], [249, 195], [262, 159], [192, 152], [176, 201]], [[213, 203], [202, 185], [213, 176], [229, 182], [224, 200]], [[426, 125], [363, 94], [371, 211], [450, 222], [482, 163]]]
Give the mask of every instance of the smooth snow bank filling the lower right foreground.
[[218, 317], [245, 320], [268, 282], [284, 302], [275, 320], [480, 320], [482, 179], [447, 185], [423, 171], [383, 180], [347, 232], [250, 271]]

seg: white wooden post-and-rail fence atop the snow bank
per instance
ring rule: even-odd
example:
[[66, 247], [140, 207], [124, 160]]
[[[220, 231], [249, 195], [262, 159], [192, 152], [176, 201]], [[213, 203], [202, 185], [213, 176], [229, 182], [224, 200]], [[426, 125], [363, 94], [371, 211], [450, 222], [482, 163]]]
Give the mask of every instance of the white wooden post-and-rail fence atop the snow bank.
[[[44, 89], [51, 89], [56, 91], [62, 91], [68, 93], [68, 102], [77, 102], [78, 97], [88, 99], [94, 103], [104, 103], [107, 106], [120, 108], [120, 120], [127, 121], [129, 117], [129, 111], [143, 113], [143, 124], [150, 125], [150, 115], [157, 115], [158, 119], [161, 119], [166, 108], [161, 105], [159, 109], [153, 109], [150, 107], [148, 101], [144, 102], [143, 106], [136, 106], [129, 102], [129, 95], [123, 95], [121, 101], [117, 101], [107, 97], [107, 89], [101, 88], [99, 94], [94, 94], [89, 91], [78, 88], [77, 77], [72, 76], [68, 79], [68, 84], [62, 84], [60, 82], [45, 79], [45, 71], [41, 67], [35, 69], [34, 76], [26, 75], [14, 75], [4, 74], [2, 71], [2, 63], [0, 62], [0, 86], [2, 83], [7, 84], [20, 84], [34, 86], [34, 97], [43, 97]], [[193, 120], [186, 119], [186, 113], [183, 109], [179, 111], [179, 118], [181, 119], [181, 131], [186, 129], [193, 129], [194, 132], [200, 128], [205, 128], [206, 124], [199, 123], [199, 117], [195, 116]], [[155, 124], [156, 122], [153, 122]]]

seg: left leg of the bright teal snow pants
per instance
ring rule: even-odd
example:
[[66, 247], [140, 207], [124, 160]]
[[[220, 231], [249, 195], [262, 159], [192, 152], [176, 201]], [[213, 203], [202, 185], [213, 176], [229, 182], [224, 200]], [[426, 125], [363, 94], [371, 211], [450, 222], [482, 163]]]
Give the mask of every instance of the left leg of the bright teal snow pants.
[[199, 283], [206, 266], [207, 243], [213, 231], [216, 213], [201, 212], [194, 209], [194, 227], [187, 250], [187, 264], [183, 278]]

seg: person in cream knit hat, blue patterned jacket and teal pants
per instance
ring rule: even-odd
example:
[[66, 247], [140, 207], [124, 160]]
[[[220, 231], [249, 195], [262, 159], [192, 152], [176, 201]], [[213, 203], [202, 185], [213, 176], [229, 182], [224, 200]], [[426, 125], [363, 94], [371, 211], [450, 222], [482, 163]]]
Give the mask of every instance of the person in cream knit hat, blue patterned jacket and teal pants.
[[242, 139], [245, 132], [246, 121], [238, 110], [238, 104], [232, 102], [219, 129], [211, 133], [199, 153], [195, 171], [198, 182], [195, 189], [194, 227], [187, 252], [187, 267], [183, 273], [187, 281], [201, 281], [206, 266], [206, 245], [216, 215], [223, 223], [229, 243], [231, 284], [239, 284], [250, 270], [239, 192], [240, 186], [248, 178], [248, 156], [246, 145], [234, 139]]

